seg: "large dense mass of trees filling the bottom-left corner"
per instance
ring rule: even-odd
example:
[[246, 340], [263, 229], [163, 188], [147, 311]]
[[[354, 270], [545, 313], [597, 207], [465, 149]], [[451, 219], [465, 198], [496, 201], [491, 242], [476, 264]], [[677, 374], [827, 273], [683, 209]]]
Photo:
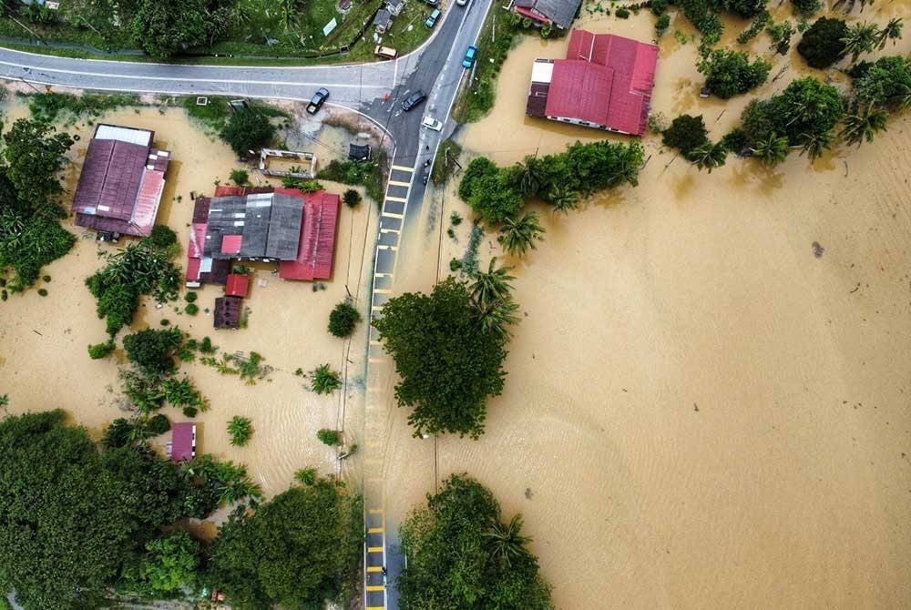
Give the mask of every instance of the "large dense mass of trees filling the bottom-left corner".
[[114, 587], [192, 587], [193, 541], [162, 528], [205, 518], [255, 485], [209, 456], [171, 463], [143, 442], [99, 450], [64, 419], [58, 410], [0, 422], [0, 587], [26, 608], [101, 607]]

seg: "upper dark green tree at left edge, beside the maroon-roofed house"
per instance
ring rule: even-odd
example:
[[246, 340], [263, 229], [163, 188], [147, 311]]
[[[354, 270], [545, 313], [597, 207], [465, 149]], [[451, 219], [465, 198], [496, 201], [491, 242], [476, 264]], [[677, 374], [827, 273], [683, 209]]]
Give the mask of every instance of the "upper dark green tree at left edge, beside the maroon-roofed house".
[[56, 133], [56, 127], [47, 123], [20, 118], [3, 139], [6, 177], [23, 208], [62, 211], [57, 201], [63, 194], [59, 174], [67, 163], [73, 138]]

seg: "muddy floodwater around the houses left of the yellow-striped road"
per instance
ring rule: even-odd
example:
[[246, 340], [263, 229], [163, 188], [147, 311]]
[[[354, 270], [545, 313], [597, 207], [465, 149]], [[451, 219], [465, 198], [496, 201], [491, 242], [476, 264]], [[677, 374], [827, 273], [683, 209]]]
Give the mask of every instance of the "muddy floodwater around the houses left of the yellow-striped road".
[[[14, 103], [6, 108], [6, 114], [24, 116], [27, 110]], [[241, 165], [228, 147], [207, 137], [182, 109], [143, 107], [137, 112], [128, 108], [101, 120], [153, 129], [157, 146], [171, 151], [159, 223], [167, 223], [178, 233], [182, 249], [177, 262], [183, 267], [193, 210], [190, 193], [210, 194], [216, 180], [228, 183], [230, 170]], [[80, 122], [69, 129], [81, 136], [70, 153], [74, 163], [67, 168], [70, 193], [75, 190], [92, 128]], [[328, 161], [328, 155], [323, 153], [322, 157]], [[247, 169], [252, 181], [268, 181], [253, 168]], [[338, 193], [348, 188], [334, 183], [324, 186]], [[29, 290], [22, 296], [11, 295], [0, 307], [0, 340], [5, 346], [0, 359], [0, 391], [9, 394], [8, 412], [62, 408], [74, 422], [86, 425], [98, 437], [108, 422], [124, 414], [118, 407], [117, 380], [118, 364], [124, 357], [118, 350], [113, 359], [88, 358], [86, 346], [104, 341], [106, 335], [104, 322], [95, 313], [95, 300], [83, 282], [101, 266], [97, 250], [112, 247], [98, 246], [94, 233], [71, 226], [69, 220], [67, 228], [80, 239], [66, 257], [45, 269], [52, 277], [44, 286], [47, 297]], [[198, 452], [245, 463], [267, 496], [287, 489], [293, 473], [305, 466], [359, 480], [359, 456], [346, 461], [342, 472], [335, 450], [322, 445], [316, 431], [343, 428], [353, 441], [359, 440], [363, 431], [364, 325], [350, 342], [330, 336], [326, 325], [330, 310], [344, 299], [346, 289], [359, 303], [367, 302], [375, 234], [374, 206], [342, 209], [334, 277], [320, 283], [324, 290], [312, 290], [309, 282], [280, 280], [272, 274], [272, 267], [255, 265], [250, 298], [244, 301], [249, 308], [245, 329], [213, 330], [212, 318], [204, 310], [211, 308], [221, 294], [221, 287], [214, 285], [199, 291], [200, 313], [195, 317], [178, 313], [173, 305], [156, 309], [154, 301], [145, 300], [133, 325], [134, 329], [146, 325], [161, 328], [160, 320], [168, 319], [197, 339], [209, 336], [221, 352], [257, 351], [273, 368], [268, 380], [248, 386], [237, 377], [220, 376], [199, 363], [180, 366], [180, 372], [189, 373], [210, 400], [210, 410], [195, 420]], [[307, 389], [307, 380], [294, 375], [298, 368], [311, 371], [324, 362], [347, 372], [345, 391], [317, 396]], [[172, 422], [185, 421], [173, 408], [166, 407], [163, 412]], [[253, 422], [254, 433], [246, 447], [230, 445], [226, 426], [234, 415]], [[166, 435], [159, 441], [167, 440]]]

